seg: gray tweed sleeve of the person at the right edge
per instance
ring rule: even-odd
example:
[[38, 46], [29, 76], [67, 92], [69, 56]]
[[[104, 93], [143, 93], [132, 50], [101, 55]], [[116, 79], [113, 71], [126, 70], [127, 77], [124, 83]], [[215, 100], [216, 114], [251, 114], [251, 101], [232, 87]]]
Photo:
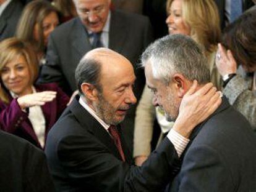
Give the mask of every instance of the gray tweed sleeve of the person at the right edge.
[[249, 90], [247, 82], [237, 74], [223, 90], [229, 103], [242, 113], [256, 131], [256, 95]]

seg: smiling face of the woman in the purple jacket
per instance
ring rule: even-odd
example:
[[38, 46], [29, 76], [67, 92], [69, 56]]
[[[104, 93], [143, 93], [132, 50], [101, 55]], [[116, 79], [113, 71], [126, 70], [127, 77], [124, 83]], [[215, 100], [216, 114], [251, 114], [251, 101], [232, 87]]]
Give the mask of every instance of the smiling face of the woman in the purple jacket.
[[19, 56], [7, 63], [0, 71], [4, 86], [19, 97], [30, 94], [32, 84], [30, 71], [23, 56]]

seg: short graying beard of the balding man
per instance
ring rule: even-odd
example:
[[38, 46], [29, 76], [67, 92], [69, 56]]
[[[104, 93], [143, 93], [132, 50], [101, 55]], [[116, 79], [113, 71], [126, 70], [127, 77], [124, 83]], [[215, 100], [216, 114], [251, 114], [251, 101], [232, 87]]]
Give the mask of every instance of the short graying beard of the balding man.
[[[100, 119], [102, 119], [106, 124], [110, 125], [117, 125], [121, 123], [125, 116], [117, 118], [116, 115], [116, 108], [114, 108], [113, 105], [111, 105], [100, 93], [98, 94], [98, 100], [99, 102], [94, 105], [96, 114], [99, 116]], [[129, 106], [128, 106], [129, 108]], [[127, 110], [127, 107], [119, 107], [119, 110]]]

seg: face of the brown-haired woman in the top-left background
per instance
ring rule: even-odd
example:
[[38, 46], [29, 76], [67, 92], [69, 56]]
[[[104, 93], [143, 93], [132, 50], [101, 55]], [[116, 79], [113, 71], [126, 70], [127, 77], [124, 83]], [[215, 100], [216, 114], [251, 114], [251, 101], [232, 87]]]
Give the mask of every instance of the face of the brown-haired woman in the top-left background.
[[[56, 12], [51, 12], [49, 15], [47, 15], [43, 20], [43, 39], [44, 44], [47, 46], [48, 43], [48, 37], [49, 34], [56, 28], [56, 26], [59, 25], [59, 18]], [[39, 26], [38, 23], [36, 23], [34, 28], [34, 36], [36, 41], [39, 41]]]

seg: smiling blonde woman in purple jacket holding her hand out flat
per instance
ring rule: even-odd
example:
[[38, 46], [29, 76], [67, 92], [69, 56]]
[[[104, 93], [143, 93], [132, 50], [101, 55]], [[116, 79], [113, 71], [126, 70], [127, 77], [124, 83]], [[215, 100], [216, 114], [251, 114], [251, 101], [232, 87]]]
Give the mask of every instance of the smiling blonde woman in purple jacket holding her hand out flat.
[[0, 43], [0, 127], [43, 149], [69, 97], [54, 83], [36, 86], [37, 76], [30, 44], [17, 38]]

